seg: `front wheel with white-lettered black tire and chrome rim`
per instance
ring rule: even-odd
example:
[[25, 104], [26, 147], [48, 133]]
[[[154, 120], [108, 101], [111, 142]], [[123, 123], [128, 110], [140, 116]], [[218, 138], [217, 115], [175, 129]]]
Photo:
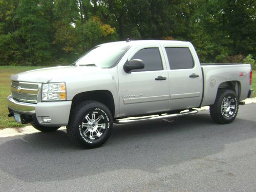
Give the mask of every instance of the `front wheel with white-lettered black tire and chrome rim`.
[[108, 140], [112, 127], [112, 114], [104, 104], [83, 101], [72, 109], [67, 133], [80, 147], [95, 148]]

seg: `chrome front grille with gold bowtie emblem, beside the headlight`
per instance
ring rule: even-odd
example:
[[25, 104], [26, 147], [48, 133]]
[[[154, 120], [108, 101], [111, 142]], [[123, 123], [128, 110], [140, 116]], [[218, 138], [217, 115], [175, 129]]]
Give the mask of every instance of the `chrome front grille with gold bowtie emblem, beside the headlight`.
[[15, 100], [37, 103], [37, 96], [41, 83], [11, 82], [12, 96]]

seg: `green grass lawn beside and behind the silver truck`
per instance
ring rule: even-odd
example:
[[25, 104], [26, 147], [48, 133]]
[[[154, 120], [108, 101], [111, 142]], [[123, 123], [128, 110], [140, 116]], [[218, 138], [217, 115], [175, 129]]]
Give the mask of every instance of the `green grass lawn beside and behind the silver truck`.
[[[7, 97], [11, 94], [10, 91], [10, 75], [39, 69], [43, 67], [14, 67], [14, 66], [0, 66], [0, 129], [5, 127], [18, 127], [24, 126], [23, 124], [16, 123], [14, 118], [8, 118]], [[252, 72], [252, 89], [254, 89], [253, 97], [256, 97], [256, 70]]]

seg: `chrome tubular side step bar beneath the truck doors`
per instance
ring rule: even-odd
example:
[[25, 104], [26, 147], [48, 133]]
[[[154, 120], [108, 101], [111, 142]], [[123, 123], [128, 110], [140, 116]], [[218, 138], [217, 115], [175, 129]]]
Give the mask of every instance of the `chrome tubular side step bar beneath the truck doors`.
[[168, 114], [168, 115], [158, 115], [154, 117], [138, 117], [136, 119], [115, 119], [114, 123], [117, 124], [125, 124], [125, 123], [135, 123], [135, 122], [141, 122], [141, 121], [148, 121], [148, 120], [157, 120], [157, 119], [165, 119], [165, 118], [172, 118], [172, 117], [180, 117], [185, 115], [193, 115], [197, 114], [197, 110], [189, 110], [182, 113], [174, 113], [174, 114]]

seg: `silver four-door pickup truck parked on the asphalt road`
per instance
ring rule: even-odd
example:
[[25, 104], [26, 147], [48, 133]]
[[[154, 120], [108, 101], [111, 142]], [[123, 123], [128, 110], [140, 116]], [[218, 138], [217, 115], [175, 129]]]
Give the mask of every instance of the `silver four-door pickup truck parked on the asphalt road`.
[[9, 116], [42, 132], [67, 126], [76, 144], [97, 147], [113, 123], [196, 114], [206, 105], [214, 121], [230, 123], [252, 95], [251, 78], [250, 65], [200, 64], [190, 42], [110, 42], [70, 66], [11, 75]]

